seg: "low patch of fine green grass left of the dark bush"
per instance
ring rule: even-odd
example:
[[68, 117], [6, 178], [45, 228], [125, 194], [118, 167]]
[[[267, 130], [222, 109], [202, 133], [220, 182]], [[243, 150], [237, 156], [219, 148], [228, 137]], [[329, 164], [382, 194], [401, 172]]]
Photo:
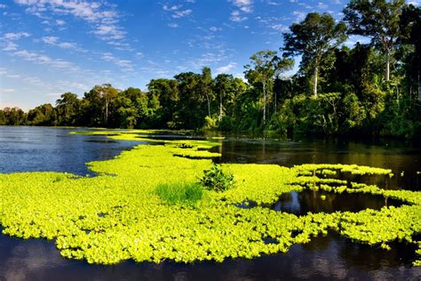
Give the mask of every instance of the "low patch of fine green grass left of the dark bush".
[[156, 194], [169, 205], [195, 205], [202, 199], [203, 189], [198, 183], [162, 183], [156, 187]]

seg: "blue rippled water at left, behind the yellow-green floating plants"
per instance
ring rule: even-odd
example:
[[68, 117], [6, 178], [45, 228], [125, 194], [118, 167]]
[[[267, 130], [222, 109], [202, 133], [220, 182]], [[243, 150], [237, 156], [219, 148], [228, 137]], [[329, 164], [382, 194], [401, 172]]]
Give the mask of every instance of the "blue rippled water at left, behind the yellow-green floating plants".
[[81, 129], [0, 126], [0, 173], [55, 171], [91, 174], [85, 163], [111, 159], [139, 141], [69, 134]]

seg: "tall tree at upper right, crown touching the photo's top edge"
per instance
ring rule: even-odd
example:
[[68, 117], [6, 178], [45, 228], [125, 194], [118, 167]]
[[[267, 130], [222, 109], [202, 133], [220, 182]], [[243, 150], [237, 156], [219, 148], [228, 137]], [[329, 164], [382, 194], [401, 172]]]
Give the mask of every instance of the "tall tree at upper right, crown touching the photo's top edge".
[[390, 79], [390, 61], [400, 35], [404, 0], [352, 0], [344, 9], [348, 33], [371, 38], [371, 44], [385, 53], [385, 81]]

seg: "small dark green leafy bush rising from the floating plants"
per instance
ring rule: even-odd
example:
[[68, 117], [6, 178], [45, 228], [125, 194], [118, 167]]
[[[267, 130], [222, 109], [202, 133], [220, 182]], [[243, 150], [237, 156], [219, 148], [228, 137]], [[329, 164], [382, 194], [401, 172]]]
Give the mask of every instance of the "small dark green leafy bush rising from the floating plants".
[[234, 175], [232, 173], [224, 173], [221, 165], [213, 165], [211, 169], [205, 170], [201, 179], [205, 189], [215, 191], [225, 191], [234, 186]]

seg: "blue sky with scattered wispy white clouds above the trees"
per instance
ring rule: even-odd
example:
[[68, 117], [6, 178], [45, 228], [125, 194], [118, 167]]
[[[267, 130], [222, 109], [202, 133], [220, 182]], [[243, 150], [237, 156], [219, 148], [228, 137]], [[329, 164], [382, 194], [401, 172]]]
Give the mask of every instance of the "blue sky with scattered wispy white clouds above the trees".
[[[347, 2], [0, 0], [0, 108], [54, 105], [104, 83], [146, 90], [204, 66], [242, 77], [251, 54], [279, 51], [293, 22], [308, 12], [340, 20]], [[367, 41], [346, 44], [357, 39]]]

